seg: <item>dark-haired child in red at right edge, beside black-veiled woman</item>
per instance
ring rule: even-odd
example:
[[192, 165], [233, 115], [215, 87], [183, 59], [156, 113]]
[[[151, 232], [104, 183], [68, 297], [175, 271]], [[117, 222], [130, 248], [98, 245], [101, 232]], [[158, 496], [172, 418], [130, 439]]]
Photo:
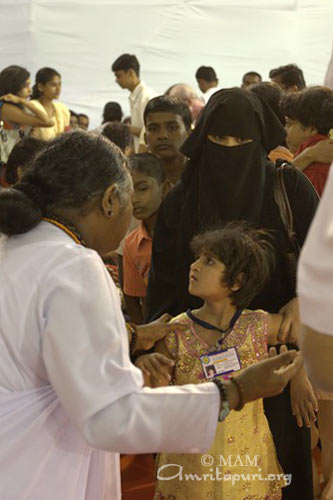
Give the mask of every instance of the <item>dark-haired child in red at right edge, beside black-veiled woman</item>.
[[[286, 116], [287, 144], [295, 158], [333, 135], [333, 90], [328, 87], [310, 87], [285, 95], [282, 109]], [[298, 168], [304, 171], [321, 196], [330, 163], [313, 162], [304, 169]]]

